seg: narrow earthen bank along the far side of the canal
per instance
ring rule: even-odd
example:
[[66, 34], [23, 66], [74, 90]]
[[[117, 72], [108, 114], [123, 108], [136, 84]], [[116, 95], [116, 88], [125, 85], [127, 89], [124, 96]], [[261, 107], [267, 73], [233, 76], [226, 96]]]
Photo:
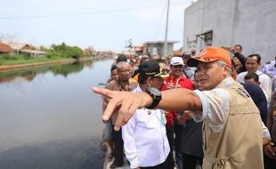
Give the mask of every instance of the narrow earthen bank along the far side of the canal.
[[[110, 58], [108, 56], [95, 56], [95, 57], [85, 57], [80, 58], [78, 61], [85, 61], [85, 60], [101, 60]], [[111, 58], [110, 58], [111, 59]], [[54, 64], [65, 64], [65, 63], [72, 63], [77, 61], [76, 59], [66, 59], [66, 60], [52, 60], [52, 61], [42, 61], [36, 63], [25, 63], [25, 64], [16, 64], [16, 65], [2, 65], [0, 66], [0, 72], [24, 69], [24, 68], [35, 68], [35, 67], [42, 67], [45, 65], [54, 65]]]

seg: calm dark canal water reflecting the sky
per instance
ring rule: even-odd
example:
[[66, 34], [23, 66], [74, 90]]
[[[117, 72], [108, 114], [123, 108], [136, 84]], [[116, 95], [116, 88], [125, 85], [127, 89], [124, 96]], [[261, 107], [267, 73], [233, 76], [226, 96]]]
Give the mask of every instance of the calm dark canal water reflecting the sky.
[[113, 60], [0, 73], [0, 168], [102, 168], [101, 97]]

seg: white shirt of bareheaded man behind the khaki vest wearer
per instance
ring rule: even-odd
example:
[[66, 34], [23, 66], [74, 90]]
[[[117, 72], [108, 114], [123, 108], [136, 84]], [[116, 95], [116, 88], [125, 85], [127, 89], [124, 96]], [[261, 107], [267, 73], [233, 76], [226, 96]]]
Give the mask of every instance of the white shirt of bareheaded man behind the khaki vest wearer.
[[[259, 82], [261, 83], [260, 86], [264, 89], [264, 94], [267, 97], [266, 100], [270, 102], [272, 96], [272, 78], [259, 70], [256, 70], [255, 73], [259, 76]], [[237, 76], [237, 82], [244, 83], [244, 77], [246, 75], [248, 75], [248, 71], [239, 73]]]

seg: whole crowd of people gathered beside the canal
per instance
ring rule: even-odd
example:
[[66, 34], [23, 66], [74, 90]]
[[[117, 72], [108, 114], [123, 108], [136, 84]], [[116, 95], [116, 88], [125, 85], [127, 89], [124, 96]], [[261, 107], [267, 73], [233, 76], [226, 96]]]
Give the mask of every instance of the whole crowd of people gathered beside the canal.
[[275, 168], [275, 64], [264, 71], [240, 44], [232, 57], [215, 46], [194, 52], [119, 55], [106, 89], [93, 88], [104, 96], [110, 168], [124, 152], [131, 168]]

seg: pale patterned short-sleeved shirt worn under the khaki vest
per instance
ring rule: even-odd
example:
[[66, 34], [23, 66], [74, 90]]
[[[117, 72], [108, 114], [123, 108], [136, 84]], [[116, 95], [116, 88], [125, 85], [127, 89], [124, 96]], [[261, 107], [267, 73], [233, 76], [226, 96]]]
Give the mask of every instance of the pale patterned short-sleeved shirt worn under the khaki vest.
[[[192, 112], [194, 120], [207, 122], [214, 133], [221, 132], [230, 113], [231, 101], [230, 93], [223, 88], [234, 83], [235, 80], [232, 77], [227, 77], [213, 90], [195, 90], [194, 92], [198, 95], [199, 100], [201, 101], [202, 111]], [[263, 122], [262, 124], [263, 138], [270, 138], [268, 129], [265, 127]]]

